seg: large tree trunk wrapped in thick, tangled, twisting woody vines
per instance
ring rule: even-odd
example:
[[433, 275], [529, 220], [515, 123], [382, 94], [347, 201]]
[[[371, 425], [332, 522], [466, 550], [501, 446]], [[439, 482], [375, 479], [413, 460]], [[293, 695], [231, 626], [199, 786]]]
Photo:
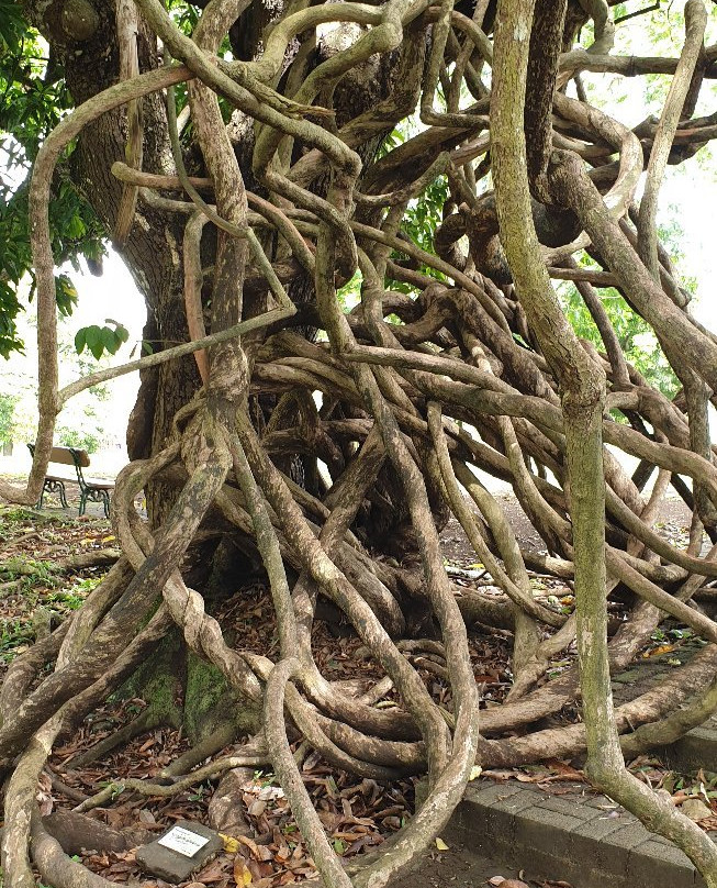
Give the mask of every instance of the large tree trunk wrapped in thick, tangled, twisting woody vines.
[[[7, 879], [32, 883], [32, 833], [43, 877], [65, 884], [61, 858], [38, 851], [37, 776], [60, 731], [176, 625], [254, 729], [234, 761], [271, 763], [327, 885], [349, 875], [311, 807], [284, 713], [337, 767], [384, 780], [428, 773], [427, 800], [355, 885], [383, 885], [410, 864], [475, 762], [586, 748], [594, 782], [717, 886], [710, 840], [623, 758], [714, 706], [717, 626], [688, 602], [717, 577], [714, 545], [702, 551], [704, 533], [717, 541], [707, 414], [717, 341], [692, 318], [656, 224], [665, 165], [715, 134], [713, 118], [696, 115], [717, 58], [702, 0], [685, 4], [679, 57], [613, 52], [630, 10], [620, 4], [614, 21], [604, 0], [202, 5], [24, 4], [77, 110], [34, 158], [40, 424], [26, 490], [0, 493], [34, 502], [68, 398], [135, 367], [143, 384], [114, 500], [123, 558], [69, 628], [13, 663], [0, 691]], [[670, 75], [659, 119], [629, 129], [591, 103], [594, 73]], [[391, 134], [416, 111], [419, 125], [399, 143]], [[63, 175], [132, 269], [154, 352], [58, 391], [49, 210]], [[551, 279], [573, 281], [584, 308], [573, 295], [565, 313]], [[350, 281], [360, 302], [344, 312]], [[624, 300], [617, 315], [605, 290]], [[626, 314], [627, 338], [654, 335], [675, 397], [630, 363], [616, 324]], [[636, 471], [605, 444], [638, 457]], [[519, 547], [477, 468], [512, 482], [547, 555]], [[670, 485], [692, 511], [686, 551], [653, 529]], [[133, 508], [143, 488], [149, 526]], [[438, 542], [451, 512], [502, 600], [457, 595]], [[229, 646], [205, 611], [247, 558], [270, 584], [276, 662]], [[529, 566], [574, 577], [574, 614], [534, 597]], [[631, 609], [608, 643], [613, 592]], [[372, 704], [386, 681], [350, 697], [318, 671], [320, 596], [352, 624], [399, 707]], [[665, 614], [709, 644], [659, 691], [614, 711], [609, 670]], [[474, 624], [514, 639], [512, 691], [480, 713]], [[580, 676], [571, 668], [546, 685], [575, 637]], [[449, 710], [404, 653], [422, 644], [441, 661]], [[540, 730], [579, 678], [584, 724]], [[262, 724], [250, 725], [258, 708]]]

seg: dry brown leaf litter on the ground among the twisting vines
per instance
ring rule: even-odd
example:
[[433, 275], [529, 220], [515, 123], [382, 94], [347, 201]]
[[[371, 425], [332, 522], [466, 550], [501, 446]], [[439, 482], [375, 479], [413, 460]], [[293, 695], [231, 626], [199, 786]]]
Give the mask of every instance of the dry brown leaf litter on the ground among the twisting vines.
[[[14, 595], [10, 590], [7, 596], [0, 597], [3, 630], [7, 625], [14, 628], [14, 634], [8, 633], [10, 656], [32, 642], [34, 607], [49, 600], [53, 608], [58, 611], [58, 619], [61, 619], [70, 608], [65, 606], [58, 590], [60, 592], [64, 588], [69, 590], [77, 585], [78, 579], [80, 582], [88, 580], [88, 588], [79, 589], [76, 595], [77, 599], [81, 599], [104, 573], [90, 569], [74, 577], [59, 577], [56, 581], [53, 571], [46, 567], [43, 574], [43, 566], [77, 552], [111, 545], [114, 542], [112, 536], [109, 522], [102, 519], [89, 519], [83, 522], [67, 520], [65, 517], [48, 519], [46, 515], [38, 517], [38, 513], [32, 510], [26, 510], [24, 514], [22, 510], [14, 510], [14, 513], [9, 515], [8, 510], [0, 509], [0, 541], [3, 543], [5, 562], [14, 557], [24, 559], [27, 564], [38, 565], [31, 575], [33, 585], [30, 596]], [[473, 560], [469, 563], [471, 570]], [[488, 581], [483, 577], [481, 574], [478, 581]], [[558, 584], [546, 586], [545, 580], [541, 582], [545, 587], [541, 593], [556, 596], [565, 607], [572, 603], [570, 587], [563, 585], [561, 591]], [[459, 580], [459, 585], [461, 584], [470, 585], [462, 578]], [[77, 606], [77, 601], [74, 603]], [[278, 642], [273, 608], [268, 590], [261, 584], [257, 582], [251, 588], [236, 590], [235, 595], [223, 602], [221, 613], [216, 615], [223, 625], [234, 630], [244, 650], [269, 656], [276, 655]], [[656, 650], [664, 642], [661, 640], [656, 642], [651, 645], [651, 655], [666, 653]], [[350, 633], [349, 628], [344, 625], [340, 619], [334, 622], [317, 621], [312, 644], [321, 671], [328, 680], [343, 682], [349, 692], [361, 692], [382, 677], [382, 671], [370, 657], [357, 656], [361, 647], [360, 641]], [[475, 680], [482, 686], [482, 706], [498, 704], [509, 689], [512, 680], [509, 653], [508, 640], [500, 634], [481, 632], [480, 629], [473, 633], [471, 659]], [[441, 704], [450, 707], [450, 688], [436, 669], [429, 667], [430, 663], [439, 665], [440, 658], [430, 659], [421, 651], [407, 656], [417, 666], [434, 697]], [[573, 657], [569, 656], [564, 663], [558, 664], [558, 670], [568, 668], [572, 659]], [[383, 702], [394, 704], [395, 693], [390, 691]], [[64, 745], [55, 750], [48, 769], [38, 785], [38, 799], [43, 813], [67, 810], [77, 803], [77, 799], [63, 795], [61, 789], [57, 788], [58, 781], [69, 790], [90, 796], [107, 785], [108, 780], [121, 777], [156, 778], [167, 764], [187, 751], [189, 744], [181, 732], [157, 728], [98, 762], [67, 772], [65, 768], [67, 761], [114, 733], [135, 718], [145, 706], [144, 700], [135, 698], [101, 707], [88, 717]], [[574, 720], [576, 711], [568, 712], [567, 715], [569, 720]], [[224, 753], [231, 752], [232, 747], [224, 751]], [[717, 828], [715, 804], [717, 775], [703, 774], [691, 780], [672, 775], [659, 764], [646, 765], [639, 759], [632, 767], [654, 788], [664, 786], [671, 790], [677, 804], [690, 798], [699, 798], [705, 804], [709, 804], [715, 815], [701, 820], [701, 825], [704, 829]], [[334, 848], [346, 858], [379, 847], [385, 837], [401, 828], [413, 810], [412, 780], [402, 781], [390, 788], [381, 787], [373, 781], [360, 780], [332, 769], [316, 754], [311, 754], [304, 761], [302, 777]], [[540, 789], [547, 790], [550, 787], [552, 793], [560, 793], [561, 789], [557, 784], [561, 781], [585, 786], [582, 772], [574, 768], [571, 763], [559, 759], [551, 759], [534, 767], [489, 769], [482, 777], [501, 781], [531, 782]], [[675, 779], [670, 784], [673, 778]], [[235, 840], [235, 844], [229, 845], [231, 851], [224, 851], [194, 874], [192, 880], [184, 884], [184, 888], [189, 886], [199, 888], [201, 885], [217, 888], [234, 885], [277, 888], [315, 876], [313, 861], [307, 854], [280, 787], [272, 782], [272, 776], [257, 774], [242, 787], [242, 790], [253, 831], [251, 836], [228, 836]], [[141, 826], [148, 834], [156, 834], [177, 820], [205, 823], [212, 791], [212, 787], [205, 784], [169, 798], [121, 796], [105, 808], [93, 810], [90, 815], [113, 829]], [[90, 869], [110, 881], [127, 883], [143, 879], [134, 850], [124, 853], [88, 851], [82, 855], [82, 861]], [[511, 888], [509, 884], [505, 881], [502, 884], [505, 888]], [[567, 883], [560, 881], [533, 884], [544, 888], [569, 888]], [[167, 884], [159, 879], [147, 885], [168, 888]]]

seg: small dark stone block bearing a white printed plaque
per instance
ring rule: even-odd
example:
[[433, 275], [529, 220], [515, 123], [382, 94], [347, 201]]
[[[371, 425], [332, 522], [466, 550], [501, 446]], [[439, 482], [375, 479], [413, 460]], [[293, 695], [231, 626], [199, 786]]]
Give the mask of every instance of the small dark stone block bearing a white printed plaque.
[[145, 872], [176, 885], [187, 881], [223, 847], [214, 830], [181, 820], [155, 842], [137, 848], [137, 863]]

